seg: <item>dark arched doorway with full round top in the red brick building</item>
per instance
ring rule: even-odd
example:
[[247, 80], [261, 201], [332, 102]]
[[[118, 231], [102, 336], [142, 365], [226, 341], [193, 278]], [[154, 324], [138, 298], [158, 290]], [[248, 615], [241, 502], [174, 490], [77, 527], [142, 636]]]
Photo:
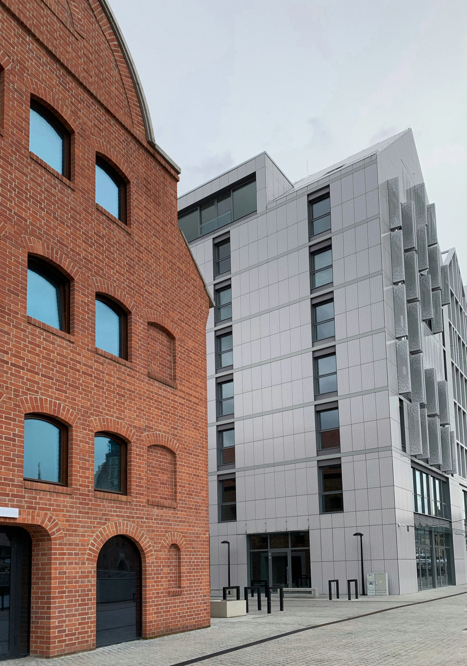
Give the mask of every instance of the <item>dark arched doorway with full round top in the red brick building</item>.
[[97, 558], [96, 647], [141, 637], [141, 557], [128, 537], [108, 539]]

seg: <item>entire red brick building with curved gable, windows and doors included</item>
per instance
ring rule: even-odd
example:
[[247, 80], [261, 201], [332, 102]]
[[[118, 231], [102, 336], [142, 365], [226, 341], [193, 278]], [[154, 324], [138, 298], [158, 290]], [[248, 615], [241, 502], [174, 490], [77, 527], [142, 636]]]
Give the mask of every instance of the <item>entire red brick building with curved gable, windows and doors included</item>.
[[178, 172], [104, 0], [0, 3], [0, 658], [210, 623]]

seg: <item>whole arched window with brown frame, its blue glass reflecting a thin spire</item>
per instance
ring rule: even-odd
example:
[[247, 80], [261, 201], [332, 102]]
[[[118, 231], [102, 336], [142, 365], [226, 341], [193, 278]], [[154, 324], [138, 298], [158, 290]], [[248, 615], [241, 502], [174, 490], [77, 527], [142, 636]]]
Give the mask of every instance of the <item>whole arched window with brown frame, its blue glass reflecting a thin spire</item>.
[[25, 479], [67, 483], [68, 429], [42, 414], [25, 416]]

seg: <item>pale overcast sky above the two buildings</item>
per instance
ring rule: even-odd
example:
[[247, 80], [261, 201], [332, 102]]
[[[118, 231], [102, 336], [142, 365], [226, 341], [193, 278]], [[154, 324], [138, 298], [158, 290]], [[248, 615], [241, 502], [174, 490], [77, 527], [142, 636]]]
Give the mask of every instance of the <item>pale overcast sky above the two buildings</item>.
[[179, 194], [261, 151], [295, 181], [410, 126], [467, 282], [465, 0], [110, 4]]

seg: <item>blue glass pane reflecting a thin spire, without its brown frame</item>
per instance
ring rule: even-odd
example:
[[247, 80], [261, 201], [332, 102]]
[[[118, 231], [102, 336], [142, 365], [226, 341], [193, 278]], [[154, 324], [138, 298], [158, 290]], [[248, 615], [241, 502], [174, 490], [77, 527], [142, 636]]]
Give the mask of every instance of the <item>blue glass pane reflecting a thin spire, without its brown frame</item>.
[[61, 432], [40, 419], [25, 420], [24, 476], [60, 483]]

